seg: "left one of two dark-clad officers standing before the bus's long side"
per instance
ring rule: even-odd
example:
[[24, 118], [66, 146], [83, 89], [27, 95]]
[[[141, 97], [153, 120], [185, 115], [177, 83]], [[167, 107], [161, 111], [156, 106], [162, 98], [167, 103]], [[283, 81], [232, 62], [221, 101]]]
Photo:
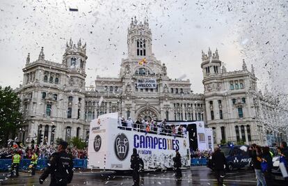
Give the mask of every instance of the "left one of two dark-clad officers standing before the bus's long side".
[[131, 155], [131, 169], [133, 169], [133, 180], [134, 180], [134, 186], [139, 186], [140, 176], [139, 176], [139, 169], [140, 169], [140, 157], [137, 154], [136, 148], [133, 148], [133, 154]]

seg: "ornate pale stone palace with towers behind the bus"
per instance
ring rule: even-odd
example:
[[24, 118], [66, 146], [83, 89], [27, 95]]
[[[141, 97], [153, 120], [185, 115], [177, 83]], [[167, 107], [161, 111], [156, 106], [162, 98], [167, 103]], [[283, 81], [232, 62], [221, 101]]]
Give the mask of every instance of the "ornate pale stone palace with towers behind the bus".
[[152, 53], [152, 33], [147, 20], [131, 20], [127, 35], [128, 56], [120, 75], [99, 77], [85, 86], [86, 44], [72, 40], [61, 63], [46, 61], [43, 48], [38, 60], [27, 57], [24, 81], [19, 88], [26, 124], [20, 139], [29, 143], [39, 134], [53, 144], [56, 138], [85, 139], [89, 123], [101, 114], [119, 112], [128, 118], [205, 121], [214, 129], [216, 144], [223, 141], [266, 143], [263, 126], [255, 120], [257, 78], [243, 61], [243, 70], [226, 72], [218, 51], [202, 52], [204, 94], [191, 91], [189, 79], [168, 77], [165, 63]]

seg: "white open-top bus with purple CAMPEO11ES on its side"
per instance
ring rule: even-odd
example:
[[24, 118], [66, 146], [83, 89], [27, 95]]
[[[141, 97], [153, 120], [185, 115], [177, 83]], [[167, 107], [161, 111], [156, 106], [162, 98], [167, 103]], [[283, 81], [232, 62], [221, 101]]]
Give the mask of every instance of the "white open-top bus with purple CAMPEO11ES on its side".
[[129, 170], [133, 148], [142, 158], [145, 170], [173, 168], [176, 149], [182, 156], [182, 166], [189, 167], [190, 132], [187, 133], [187, 137], [179, 137], [129, 130], [118, 126], [118, 113], [104, 114], [90, 123], [88, 168]]

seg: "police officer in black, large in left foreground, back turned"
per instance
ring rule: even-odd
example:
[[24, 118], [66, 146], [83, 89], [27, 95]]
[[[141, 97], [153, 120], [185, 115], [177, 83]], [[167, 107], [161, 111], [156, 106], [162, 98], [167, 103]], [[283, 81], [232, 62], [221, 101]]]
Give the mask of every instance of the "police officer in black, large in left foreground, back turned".
[[73, 161], [70, 155], [66, 153], [68, 144], [66, 141], [59, 141], [58, 152], [53, 153], [48, 166], [39, 178], [39, 183], [51, 174], [50, 186], [66, 186], [71, 183], [73, 178]]

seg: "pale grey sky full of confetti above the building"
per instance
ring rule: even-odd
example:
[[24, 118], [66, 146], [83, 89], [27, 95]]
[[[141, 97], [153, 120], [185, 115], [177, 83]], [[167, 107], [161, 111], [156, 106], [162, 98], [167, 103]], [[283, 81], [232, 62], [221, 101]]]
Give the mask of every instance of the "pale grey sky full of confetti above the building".
[[[71, 12], [70, 7], [79, 11]], [[267, 8], [273, 8], [270, 14]], [[229, 71], [240, 70], [242, 59], [249, 70], [253, 63], [260, 88], [276, 76], [287, 79], [280, 70], [287, 67], [286, 1], [1, 0], [0, 85], [15, 88], [22, 84], [27, 53], [35, 61], [42, 46], [45, 59], [61, 63], [70, 37], [74, 42], [79, 38], [87, 42], [86, 86], [94, 85], [96, 75], [117, 77], [121, 59], [126, 57], [127, 28], [134, 15], [138, 21], [149, 18], [152, 50], [166, 63], [168, 75], [186, 76], [195, 93], [203, 91], [201, 49], [207, 52], [208, 47], [212, 52], [218, 48]], [[273, 61], [275, 56], [282, 56], [282, 60]], [[265, 66], [263, 59], [270, 63]], [[273, 69], [277, 73], [271, 74]], [[284, 84], [287, 87], [287, 81]]]

